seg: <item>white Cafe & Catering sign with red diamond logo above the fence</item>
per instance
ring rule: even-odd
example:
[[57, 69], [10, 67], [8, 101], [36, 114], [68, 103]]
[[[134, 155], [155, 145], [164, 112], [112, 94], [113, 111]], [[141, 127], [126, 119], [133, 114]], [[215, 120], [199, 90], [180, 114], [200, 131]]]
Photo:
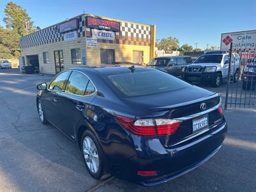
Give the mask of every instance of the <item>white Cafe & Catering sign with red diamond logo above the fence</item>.
[[232, 49], [256, 49], [256, 30], [222, 33], [221, 51], [228, 51], [231, 42], [233, 42]]

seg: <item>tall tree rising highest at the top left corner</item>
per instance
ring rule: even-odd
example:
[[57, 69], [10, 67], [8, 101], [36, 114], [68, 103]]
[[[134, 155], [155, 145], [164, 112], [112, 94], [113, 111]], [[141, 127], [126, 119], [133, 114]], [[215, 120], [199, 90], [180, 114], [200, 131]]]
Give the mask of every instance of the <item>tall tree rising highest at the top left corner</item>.
[[4, 19], [6, 28], [16, 31], [19, 36], [28, 35], [35, 31], [33, 28], [33, 21], [29, 17], [26, 10], [12, 1], [6, 4], [4, 8]]

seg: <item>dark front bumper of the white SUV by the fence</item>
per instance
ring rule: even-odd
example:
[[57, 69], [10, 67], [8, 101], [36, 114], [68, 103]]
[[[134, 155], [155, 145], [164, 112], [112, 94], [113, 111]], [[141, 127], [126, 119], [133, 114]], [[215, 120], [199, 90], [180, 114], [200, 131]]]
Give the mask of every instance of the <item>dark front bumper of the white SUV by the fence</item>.
[[216, 72], [186, 72], [184, 79], [191, 82], [214, 81]]

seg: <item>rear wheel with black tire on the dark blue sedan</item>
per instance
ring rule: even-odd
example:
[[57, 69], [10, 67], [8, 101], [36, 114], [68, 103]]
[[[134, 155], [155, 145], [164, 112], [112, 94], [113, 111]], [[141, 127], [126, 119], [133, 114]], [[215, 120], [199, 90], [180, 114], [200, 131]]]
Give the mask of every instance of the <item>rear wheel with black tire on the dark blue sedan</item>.
[[[84, 164], [94, 179], [104, 179], [106, 163], [99, 141], [91, 131], [84, 131], [81, 138], [81, 152]], [[93, 163], [94, 162], [94, 163]]]

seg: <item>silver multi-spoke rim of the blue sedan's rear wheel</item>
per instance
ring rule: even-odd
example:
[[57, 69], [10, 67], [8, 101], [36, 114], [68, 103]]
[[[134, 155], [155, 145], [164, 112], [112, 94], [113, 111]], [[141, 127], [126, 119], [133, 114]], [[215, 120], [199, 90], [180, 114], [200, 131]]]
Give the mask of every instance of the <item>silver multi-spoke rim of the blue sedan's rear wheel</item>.
[[99, 171], [99, 154], [93, 140], [86, 136], [83, 140], [83, 154], [85, 162], [92, 173]]

